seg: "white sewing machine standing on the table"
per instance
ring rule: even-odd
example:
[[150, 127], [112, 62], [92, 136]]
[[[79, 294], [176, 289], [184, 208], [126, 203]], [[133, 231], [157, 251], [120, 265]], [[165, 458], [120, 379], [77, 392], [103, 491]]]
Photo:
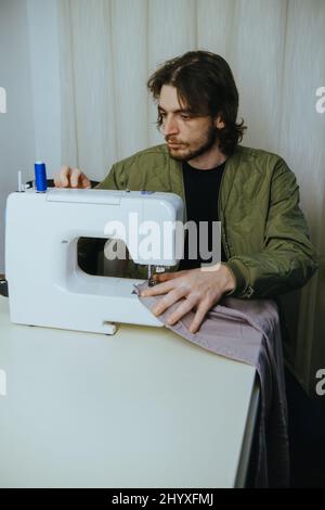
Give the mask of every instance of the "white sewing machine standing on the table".
[[[139, 232], [133, 224], [128, 228], [130, 213], [136, 215]], [[162, 326], [134, 293], [134, 283], [143, 280], [83, 272], [77, 262], [77, 242], [80, 237], [122, 239], [123, 233], [115, 228], [120, 221], [126, 226], [122, 241], [134, 263], [173, 266], [178, 262], [176, 230], [165, 231], [158, 257], [138, 250], [139, 241], [145, 221], [155, 221], [162, 231], [165, 222], [182, 220], [183, 202], [173, 193], [50, 189], [10, 194], [5, 276], [11, 320], [106, 334], [115, 333], [115, 322]]]

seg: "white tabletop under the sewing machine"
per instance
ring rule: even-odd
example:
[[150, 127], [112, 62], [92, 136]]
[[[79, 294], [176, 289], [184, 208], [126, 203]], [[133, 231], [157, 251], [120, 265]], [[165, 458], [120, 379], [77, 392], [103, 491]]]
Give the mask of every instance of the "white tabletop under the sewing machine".
[[0, 369], [1, 487], [244, 483], [252, 367], [165, 328], [106, 336], [15, 326], [0, 296]]

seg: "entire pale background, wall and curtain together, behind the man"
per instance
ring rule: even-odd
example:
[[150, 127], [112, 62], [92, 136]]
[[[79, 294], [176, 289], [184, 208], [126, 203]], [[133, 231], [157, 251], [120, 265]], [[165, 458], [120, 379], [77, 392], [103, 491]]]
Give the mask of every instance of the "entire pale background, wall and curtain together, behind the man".
[[[157, 64], [191, 49], [230, 63], [248, 131], [243, 143], [281, 154], [300, 183], [321, 268], [294, 304], [287, 345], [311, 394], [325, 368], [324, 0], [1, 0], [0, 114], [3, 267], [5, 197], [16, 171], [44, 160], [102, 179], [110, 165], [161, 142], [145, 82]], [[14, 106], [13, 106], [14, 97]]]

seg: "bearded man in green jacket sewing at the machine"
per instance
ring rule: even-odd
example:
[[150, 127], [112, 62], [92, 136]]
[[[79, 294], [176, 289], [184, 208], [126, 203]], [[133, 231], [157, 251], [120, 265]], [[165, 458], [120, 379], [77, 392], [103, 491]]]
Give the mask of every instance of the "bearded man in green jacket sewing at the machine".
[[[147, 86], [167, 143], [116, 163], [99, 188], [174, 192], [187, 220], [222, 227], [222, 264], [202, 270], [203, 260], [191, 260], [185, 246], [182, 270], [157, 276], [143, 294], [164, 295], [153, 311], [179, 303], [168, 318], [174, 324], [195, 309], [195, 333], [224, 294], [266, 297], [302, 286], [316, 263], [295, 175], [280, 156], [238, 145], [245, 127], [236, 123], [238, 92], [227, 63], [187, 52], [167, 61]], [[90, 187], [81, 170], [67, 166], [54, 181]]]

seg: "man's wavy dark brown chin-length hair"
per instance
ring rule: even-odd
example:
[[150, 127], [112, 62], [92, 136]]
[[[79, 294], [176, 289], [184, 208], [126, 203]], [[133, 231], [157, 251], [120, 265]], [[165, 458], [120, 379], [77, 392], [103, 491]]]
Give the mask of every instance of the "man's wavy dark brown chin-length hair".
[[[242, 141], [246, 126], [237, 123], [238, 91], [229, 64], [209, 51], [188, 51], [168, 60], [150, 77], [147, 88], [155, 100], [164, 85], [177, 88], [179, 101], [195, 115], [220, 116], [224, 127], [218, 129], [220, 151], [231, 155]], [[162, 118], [158, 113], [157, 125]]]

